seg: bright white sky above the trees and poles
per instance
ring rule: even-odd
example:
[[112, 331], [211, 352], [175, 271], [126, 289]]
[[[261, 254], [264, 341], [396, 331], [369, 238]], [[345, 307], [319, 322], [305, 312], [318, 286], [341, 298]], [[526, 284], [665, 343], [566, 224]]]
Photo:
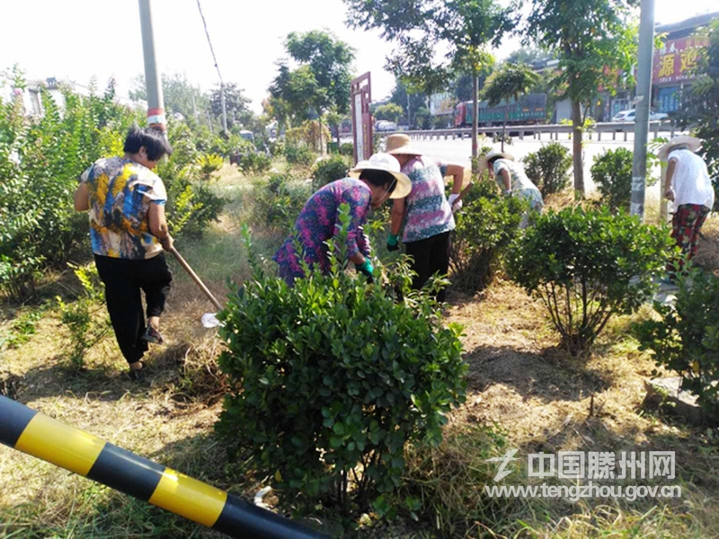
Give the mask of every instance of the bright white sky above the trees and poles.
[[[283, 56], [290, 31], [327, 29], [357, 49], [356, 73], [370, 71], [373, 98], [392, 89], [384, 71], [391, 45], [377, 32], [344, 25], [342, 0], [200, 0], [217, 64], [226, 82], [238, 84], [261, 110], [262, 98]], [[719, 10], [715, 0], [655, 0], [656, 21], [677, 22]], [[202, 27], [197, 0], [152, 0], [157, 62], [164, 73], [184, 73], [210, 89], [217, 72]], [[0, 70], [19, 64], [29, 78], [55, 76], [86, 84], [95, 75], [102, 87], [114, 76], [127, 92], [144, 72], [137, 0], [22, 0], [0, 7]], [[510, 40], [495, 51], [504, 57], [519, 47]]]

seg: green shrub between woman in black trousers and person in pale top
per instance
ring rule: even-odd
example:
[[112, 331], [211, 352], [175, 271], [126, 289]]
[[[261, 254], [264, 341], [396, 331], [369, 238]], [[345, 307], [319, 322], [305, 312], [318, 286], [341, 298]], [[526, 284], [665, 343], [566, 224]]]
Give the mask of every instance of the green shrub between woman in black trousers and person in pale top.
[[502, 196], [490, 180], [475, 183], [462, 202], [462, 211], [455, 214], [449, 267], [453, 285], [474, 294], [492, 282], [502, 252], [519, 234], [528, 203]]

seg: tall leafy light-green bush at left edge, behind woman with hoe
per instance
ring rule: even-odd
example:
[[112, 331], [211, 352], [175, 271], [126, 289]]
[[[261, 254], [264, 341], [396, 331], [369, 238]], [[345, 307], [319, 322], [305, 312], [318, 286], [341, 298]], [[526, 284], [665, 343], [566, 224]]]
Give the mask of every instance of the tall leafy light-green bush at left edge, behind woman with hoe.
[[77, 178], [95, 159], [121, 151], [118, 133], [136, 119], [114, 102], [112, 84], [102, 95], [61, 93], [63, 110], [40, 91], [40, 117], [27, 116], [20, 100], [0, 100], [0, 289], [18, 302], [34, 293], [40, 270], [64, 267], [84, 243], [87, 217], [72, 198]]

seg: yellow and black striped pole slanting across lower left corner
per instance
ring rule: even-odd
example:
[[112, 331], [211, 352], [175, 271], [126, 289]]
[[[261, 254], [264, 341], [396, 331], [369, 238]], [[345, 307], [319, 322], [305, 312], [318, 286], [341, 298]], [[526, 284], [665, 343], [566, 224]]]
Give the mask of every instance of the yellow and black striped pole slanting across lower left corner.
[[2, 395], [0, 443], [231, 537], [327, 537]]

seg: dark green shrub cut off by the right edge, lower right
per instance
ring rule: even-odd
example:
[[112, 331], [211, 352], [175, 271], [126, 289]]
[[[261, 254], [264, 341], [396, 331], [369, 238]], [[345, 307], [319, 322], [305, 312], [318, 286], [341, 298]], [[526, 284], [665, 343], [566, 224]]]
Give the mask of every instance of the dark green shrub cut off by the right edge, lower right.
[[655, 303], [660, 320], [635, 326], [641, 349], [679, 373], [682, 389], [697, 395], [706, 420], [719, 422], [719, 278], [691, 269], [679, 278], [676, 296], [673, 306]]

